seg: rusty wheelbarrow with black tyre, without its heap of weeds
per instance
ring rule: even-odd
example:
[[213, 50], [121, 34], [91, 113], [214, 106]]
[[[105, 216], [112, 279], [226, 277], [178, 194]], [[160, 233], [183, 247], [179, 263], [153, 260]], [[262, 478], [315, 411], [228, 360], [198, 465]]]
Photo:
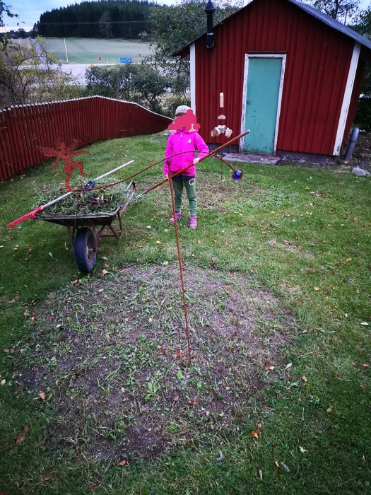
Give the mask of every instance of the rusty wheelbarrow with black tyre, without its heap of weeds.
[[[134, 181], [129, 183], [124, 193], [127, 196], [127, 201], [117, 206], [117, 209], [112, 213], [85, 215], [39, 214], [35, 219], [66, 226], [78, 269], [83, 273], [90, 273], [93, 272], [97, 260], [100, 238], [122, 238], [124, 229], [121, 217], [134, 197]], [[114, 224], [115, 219], [117, 219], [118, 226]]]

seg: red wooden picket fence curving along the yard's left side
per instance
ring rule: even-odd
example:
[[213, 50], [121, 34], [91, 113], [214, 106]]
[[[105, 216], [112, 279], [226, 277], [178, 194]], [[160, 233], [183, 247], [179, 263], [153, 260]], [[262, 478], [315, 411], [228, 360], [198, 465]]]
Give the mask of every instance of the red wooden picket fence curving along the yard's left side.
[[155, 134], [170, 122], [136, 103], [102, 96], [0, 110], [0, 181], [45, 161], [43, 147]]

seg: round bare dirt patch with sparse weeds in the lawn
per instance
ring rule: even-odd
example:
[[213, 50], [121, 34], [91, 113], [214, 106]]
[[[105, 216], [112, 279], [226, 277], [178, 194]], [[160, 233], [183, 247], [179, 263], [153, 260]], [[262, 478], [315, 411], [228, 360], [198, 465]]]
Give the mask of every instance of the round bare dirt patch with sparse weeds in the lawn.
[[129, 462], [255, 429], [295, 332], [281, 301], [240, 274], [185, 267], [189, 364], [177, 267], [107, 271], [49, 294], [22, 343], [16, 379], [54, 411], [48, 447]]

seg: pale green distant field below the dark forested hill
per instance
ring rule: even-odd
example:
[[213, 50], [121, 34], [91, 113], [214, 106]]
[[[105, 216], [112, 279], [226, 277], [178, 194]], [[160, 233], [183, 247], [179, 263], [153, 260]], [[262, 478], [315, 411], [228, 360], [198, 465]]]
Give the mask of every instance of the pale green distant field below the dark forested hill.
[[[131, 40], [95, 40], [90, 38], [45, 38], [47, 50], [69, 64], [118, 64], [120, 57], [131, 57], [133, 62], [151, 53], [148, 43]], [[99, 61], [98, 57], [102, 57]]]

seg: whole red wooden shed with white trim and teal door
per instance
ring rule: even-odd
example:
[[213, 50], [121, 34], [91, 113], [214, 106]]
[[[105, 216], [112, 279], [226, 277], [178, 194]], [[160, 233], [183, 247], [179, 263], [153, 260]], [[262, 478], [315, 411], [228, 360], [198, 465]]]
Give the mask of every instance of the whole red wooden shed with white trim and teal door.
[[226, 142], [225, 127], [232, 136], [250, 129], [240, 151], [340, 153], [370, 40], [297, 0], [253, 0], [214, 26], [213, 47], [207, 38], [177, 52], [190, 55], [191, 105], [206, 141]]

